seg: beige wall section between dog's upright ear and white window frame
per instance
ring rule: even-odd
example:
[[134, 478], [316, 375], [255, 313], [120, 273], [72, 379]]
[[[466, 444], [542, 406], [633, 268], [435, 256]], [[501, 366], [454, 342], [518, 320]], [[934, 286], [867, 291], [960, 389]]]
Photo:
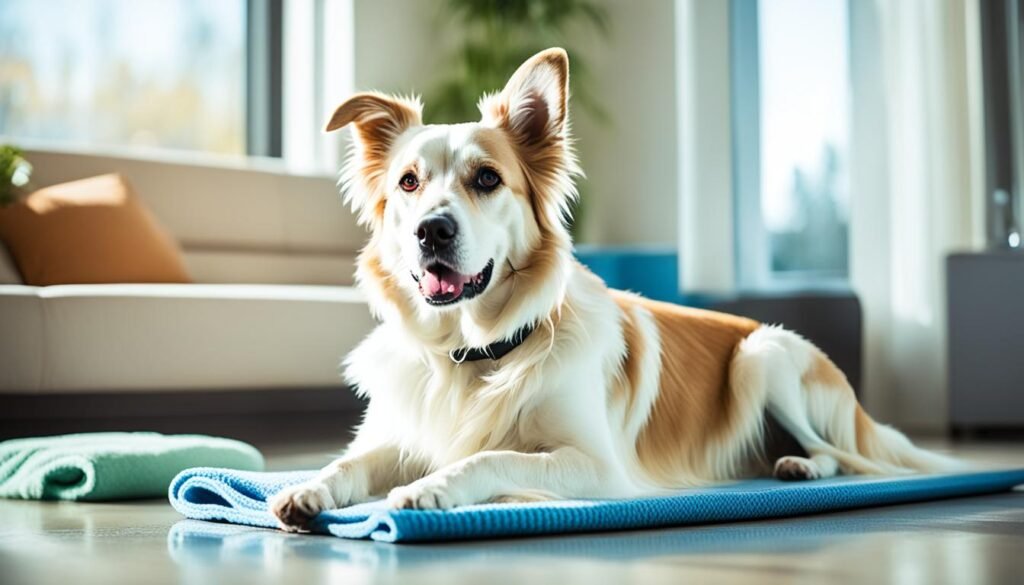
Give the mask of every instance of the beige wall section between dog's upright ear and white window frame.
[[[578, 116], [587, 180], [583, 239], [678, 241], [675, 18], [672, 0], [601, 0], [612, 36], [573, 43], [586, 58], [607, 127]], [[587, 42], [589, 41], [589, 42]]]

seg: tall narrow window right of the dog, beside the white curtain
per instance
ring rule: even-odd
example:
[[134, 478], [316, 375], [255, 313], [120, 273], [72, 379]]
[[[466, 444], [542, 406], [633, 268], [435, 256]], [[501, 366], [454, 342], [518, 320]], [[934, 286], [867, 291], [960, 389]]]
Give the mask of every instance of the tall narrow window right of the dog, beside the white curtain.
[[847, 0], [733, 0], [733, 185], [741, 289], [848, 274]]

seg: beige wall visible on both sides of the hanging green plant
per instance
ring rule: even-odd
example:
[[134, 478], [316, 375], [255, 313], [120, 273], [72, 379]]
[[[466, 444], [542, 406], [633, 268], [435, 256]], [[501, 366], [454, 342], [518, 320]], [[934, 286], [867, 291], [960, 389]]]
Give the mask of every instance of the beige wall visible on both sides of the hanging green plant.
[[[602, 126], [573, 117], [587, 179], [583, 241], [677, 242], [677, 145], [673, 0], [598, 0], [612, 35], [569, 42], [587, 59], [610, 115]], [[458, 45], [443, 0], [356, 0], [355, 88], [425, 92]], [[570, 106], [571, 108], [571, 106]]]

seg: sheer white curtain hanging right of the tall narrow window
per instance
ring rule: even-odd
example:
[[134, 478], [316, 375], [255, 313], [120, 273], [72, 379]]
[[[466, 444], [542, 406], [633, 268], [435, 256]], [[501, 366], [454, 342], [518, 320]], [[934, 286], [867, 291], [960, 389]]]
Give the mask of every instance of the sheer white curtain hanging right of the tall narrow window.
[[947, 425], [945, 257], [983, 240], [978, 0], [851, 2], [851, 278], [864, 402]]

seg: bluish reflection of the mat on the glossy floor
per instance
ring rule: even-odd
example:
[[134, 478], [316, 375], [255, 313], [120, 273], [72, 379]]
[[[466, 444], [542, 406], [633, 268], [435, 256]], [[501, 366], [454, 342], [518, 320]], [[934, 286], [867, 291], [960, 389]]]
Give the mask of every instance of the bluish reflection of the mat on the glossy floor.
[[528, 556], [624, 561], [659, 556], [742, 553], [800, 553], [835, 546], [872, 533], [978, 533], [1020, 535], [1024, 494], [945, 500], [872, 508], [784, 520], [626, 533], [570, 535], [449, 544], [394, 545], [327, 536], [182, 520], [168, 534], [168, 549], [179, 566], [244, 560], [270, 569], [286, 558], [379, 571], [422, 563], [516, 563]]

